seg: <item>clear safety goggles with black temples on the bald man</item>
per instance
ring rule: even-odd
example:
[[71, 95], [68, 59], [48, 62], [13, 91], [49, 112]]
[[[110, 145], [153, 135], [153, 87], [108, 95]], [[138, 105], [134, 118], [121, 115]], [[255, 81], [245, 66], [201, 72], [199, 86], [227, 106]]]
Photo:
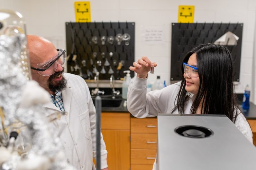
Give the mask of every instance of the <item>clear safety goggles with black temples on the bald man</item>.
[[66, 50], [57, 49], [58, 53], [50, 60], [37, 64], [36, 67], [31, 67], [32, 70], [36, 70], [38, 74], [42, 76], [49, 76], [56, 72], [58, 64], [64, 65], [66, 60]]

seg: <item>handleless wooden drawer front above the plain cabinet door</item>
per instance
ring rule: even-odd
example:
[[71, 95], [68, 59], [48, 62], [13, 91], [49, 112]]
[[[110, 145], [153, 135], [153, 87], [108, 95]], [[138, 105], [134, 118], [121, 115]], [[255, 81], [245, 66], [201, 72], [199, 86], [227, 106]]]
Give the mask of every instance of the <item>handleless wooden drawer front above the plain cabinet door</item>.
[[130, 130], [129, 113], [102, 113], [101, 129]]

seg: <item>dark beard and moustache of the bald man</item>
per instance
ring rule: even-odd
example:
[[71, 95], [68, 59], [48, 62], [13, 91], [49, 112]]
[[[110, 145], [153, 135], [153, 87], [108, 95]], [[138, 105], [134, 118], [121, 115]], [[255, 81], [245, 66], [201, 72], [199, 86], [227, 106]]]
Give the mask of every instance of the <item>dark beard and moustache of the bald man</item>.
[[[63, 70], [61, 72], [55, 72], [48, 79], [48, 87], [49, 87], [50, 91], [52, 91], [54, 93], [57, 91], [62, 91], [64, 89], [66, 89], [67, 80], [65, 79], [65, 77], [62, 74], [64, 72], [64, 67], [62, 67], [62, 68], [63, 68]], [[53, 79], [57, 78], [60, 74], [62, 75], [62, 79], [60, 81], [54, 81]]]

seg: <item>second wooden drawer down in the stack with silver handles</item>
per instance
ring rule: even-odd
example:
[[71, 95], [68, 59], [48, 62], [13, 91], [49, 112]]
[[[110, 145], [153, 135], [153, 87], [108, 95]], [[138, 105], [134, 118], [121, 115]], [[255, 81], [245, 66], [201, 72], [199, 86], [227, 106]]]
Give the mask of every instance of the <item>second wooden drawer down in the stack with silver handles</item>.
[[157, 134], [131, 134], [131, 149], [156, 149]]

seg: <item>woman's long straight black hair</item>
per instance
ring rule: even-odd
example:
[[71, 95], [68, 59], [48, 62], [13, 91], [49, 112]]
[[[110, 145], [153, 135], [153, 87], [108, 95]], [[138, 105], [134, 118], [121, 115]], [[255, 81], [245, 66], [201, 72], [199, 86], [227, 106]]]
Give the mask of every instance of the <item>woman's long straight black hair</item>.
[[[202, 102], [201, 114], [224, 114], [235, 123], [239, 107], [234, 93], [232, 57], [229, 50], [222, 45], [202, 44], [186, 54], [183, 62], [187, 63], [193, 53], [196, 55], [200, 85], [190, 114], [196, 114]], [[181, 69], [184, 74], [183, 65]], [[177, 105], [172, 113], [178, 109], [179, 113], [184, 114], [184, 106], [189, 98], [183, 74], [179, 94], [175, 99]]]

